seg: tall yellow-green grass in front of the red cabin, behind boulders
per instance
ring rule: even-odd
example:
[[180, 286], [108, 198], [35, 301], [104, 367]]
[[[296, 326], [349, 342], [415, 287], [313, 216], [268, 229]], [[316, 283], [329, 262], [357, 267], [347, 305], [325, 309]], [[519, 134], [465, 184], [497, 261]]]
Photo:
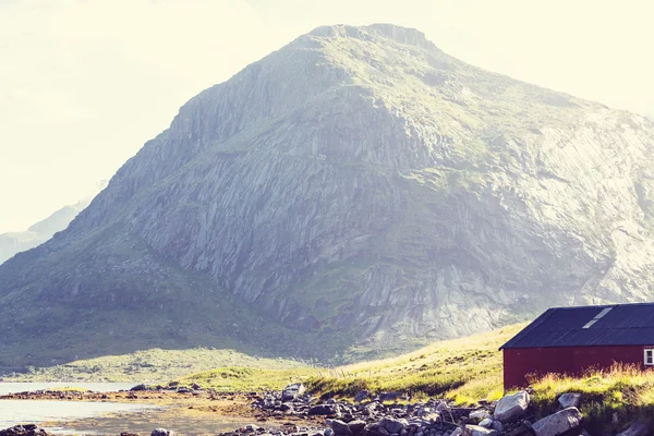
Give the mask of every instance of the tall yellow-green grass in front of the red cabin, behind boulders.
[[[559, 395], [580, 392], [580, 411], [591, 434], [620, 431], [635, 419], [651, 420], [654, 415], [654, 374], [651, 371], [616, 364], [582, 377], [549, 374], [531, 383], [537, 415], [553, 413]], [[614, 414], [617, 422], [611, 423]]]

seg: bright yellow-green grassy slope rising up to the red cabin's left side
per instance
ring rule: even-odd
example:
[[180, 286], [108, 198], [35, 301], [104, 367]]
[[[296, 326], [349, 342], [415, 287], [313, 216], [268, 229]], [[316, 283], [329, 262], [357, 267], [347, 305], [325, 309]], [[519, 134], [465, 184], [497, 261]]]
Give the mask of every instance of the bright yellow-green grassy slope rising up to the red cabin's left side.
[[498, 399], [504, 393], [498, 348], [523, 327], [440, 341], [393, 359], [322, 370], [306, 384], [314, 392], [346, 398], [368, 389], [400, 391], [414, 399], [437, 396], [460, 404]]

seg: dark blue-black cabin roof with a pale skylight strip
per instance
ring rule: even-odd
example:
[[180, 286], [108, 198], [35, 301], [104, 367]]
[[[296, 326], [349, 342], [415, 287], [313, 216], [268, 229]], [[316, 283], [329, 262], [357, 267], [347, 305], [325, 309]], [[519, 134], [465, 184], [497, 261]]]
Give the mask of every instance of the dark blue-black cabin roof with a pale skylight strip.
[[654, 303], [553, 307], [500, 347], [654, 346]]

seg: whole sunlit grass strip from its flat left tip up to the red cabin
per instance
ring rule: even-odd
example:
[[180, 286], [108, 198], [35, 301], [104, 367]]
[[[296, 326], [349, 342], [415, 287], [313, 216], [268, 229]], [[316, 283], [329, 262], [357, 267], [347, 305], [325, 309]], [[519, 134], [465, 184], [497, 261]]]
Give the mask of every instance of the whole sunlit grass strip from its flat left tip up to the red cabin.
[[436, 342], [398, 358], [334, 370], [252, 370], [221, 367], [180, 379], [221, 390], [281, 389], [303, 380], [315, 393], [353, 397], [361, 389], [445, 396], [460, 403], [502, 395], [498, 348], [524, 325], [469, 338]]

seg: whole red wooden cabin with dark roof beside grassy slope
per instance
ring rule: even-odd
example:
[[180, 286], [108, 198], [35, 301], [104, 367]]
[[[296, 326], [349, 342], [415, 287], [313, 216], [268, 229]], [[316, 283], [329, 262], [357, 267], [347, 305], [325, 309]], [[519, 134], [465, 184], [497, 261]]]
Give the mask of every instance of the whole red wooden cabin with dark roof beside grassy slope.
[[530, 374], [654, 367], [654, 303], [549, 308], [500, 350], [507, 390], [529, 385]]

